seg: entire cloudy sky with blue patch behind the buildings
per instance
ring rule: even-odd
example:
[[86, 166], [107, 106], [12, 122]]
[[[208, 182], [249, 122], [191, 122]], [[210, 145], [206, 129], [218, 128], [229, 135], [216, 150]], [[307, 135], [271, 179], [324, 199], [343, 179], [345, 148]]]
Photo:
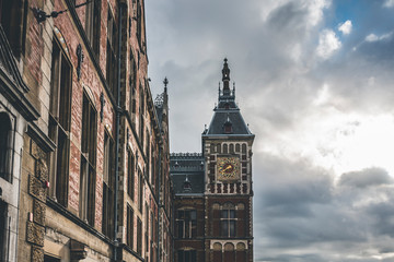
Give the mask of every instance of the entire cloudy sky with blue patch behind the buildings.
[[171, 151], [200, 152], [223, 58], [255, 133], [255, 261], [394, 261], [394, 0], [149, 0]]

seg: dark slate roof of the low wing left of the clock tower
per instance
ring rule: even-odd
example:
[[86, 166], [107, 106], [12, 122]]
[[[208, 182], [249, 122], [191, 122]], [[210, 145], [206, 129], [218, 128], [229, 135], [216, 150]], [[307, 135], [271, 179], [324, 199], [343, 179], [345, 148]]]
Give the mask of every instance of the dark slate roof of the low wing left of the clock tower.
[[[170, 156], [170, 174], [176, 194], [202, 194], [204, 157], [197, 153], [177, 153]], [[189, 183], [190, 188], [185, 187]]]

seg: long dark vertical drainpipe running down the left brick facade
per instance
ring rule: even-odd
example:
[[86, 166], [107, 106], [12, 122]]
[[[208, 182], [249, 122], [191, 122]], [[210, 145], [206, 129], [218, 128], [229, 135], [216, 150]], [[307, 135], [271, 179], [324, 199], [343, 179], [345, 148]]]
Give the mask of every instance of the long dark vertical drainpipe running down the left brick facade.
[[118, 13], [118, 57], [117, 57], [117, 91], [116, 91], [116, 162], [115, 162], [115, 198], [114, 198], [114, 261], [117, 261], [117, 247], [119, 246], [117, 234], [118, 234], [118, 193], [119, 193], [119, 129], [120, 129], [120, 66], [121, 66], [121, 14], [123, 14], [124, 3], [119, 3], [119, 13]]

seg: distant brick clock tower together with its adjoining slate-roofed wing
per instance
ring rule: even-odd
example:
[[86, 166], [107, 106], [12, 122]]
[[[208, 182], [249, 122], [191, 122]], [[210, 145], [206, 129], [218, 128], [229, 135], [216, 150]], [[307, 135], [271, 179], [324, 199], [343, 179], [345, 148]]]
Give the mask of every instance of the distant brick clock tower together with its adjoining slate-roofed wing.
[[253, 261], [254, 134], [235, 104], [235, 85], [230, 90], [227, 59], [222, 81], [202, 153], [171, 155], [176, 262]]

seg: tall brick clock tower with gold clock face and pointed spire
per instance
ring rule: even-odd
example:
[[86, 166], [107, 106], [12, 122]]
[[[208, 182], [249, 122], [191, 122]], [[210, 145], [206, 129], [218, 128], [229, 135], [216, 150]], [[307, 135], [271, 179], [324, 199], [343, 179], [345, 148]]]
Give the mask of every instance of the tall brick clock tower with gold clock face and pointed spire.
[[224, 59], [218, 105], [202, 132], [205, 160], [205, 261], [252, 262], [252, 144], [254, 134], [230, 88]]

